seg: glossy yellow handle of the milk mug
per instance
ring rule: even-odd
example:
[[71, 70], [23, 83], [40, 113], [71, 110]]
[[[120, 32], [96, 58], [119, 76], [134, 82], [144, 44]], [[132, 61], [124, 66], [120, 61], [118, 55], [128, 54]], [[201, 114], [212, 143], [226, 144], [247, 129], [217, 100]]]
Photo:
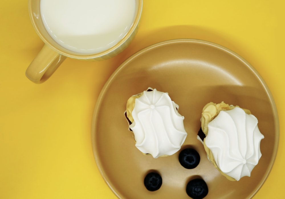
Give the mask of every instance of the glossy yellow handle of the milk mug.
[[28, 66], [26, 76], [32, 82], [41, 84], [56, 71], [65, 59], [66, 56], [57, 53], [44, 44], [38, 55]]

